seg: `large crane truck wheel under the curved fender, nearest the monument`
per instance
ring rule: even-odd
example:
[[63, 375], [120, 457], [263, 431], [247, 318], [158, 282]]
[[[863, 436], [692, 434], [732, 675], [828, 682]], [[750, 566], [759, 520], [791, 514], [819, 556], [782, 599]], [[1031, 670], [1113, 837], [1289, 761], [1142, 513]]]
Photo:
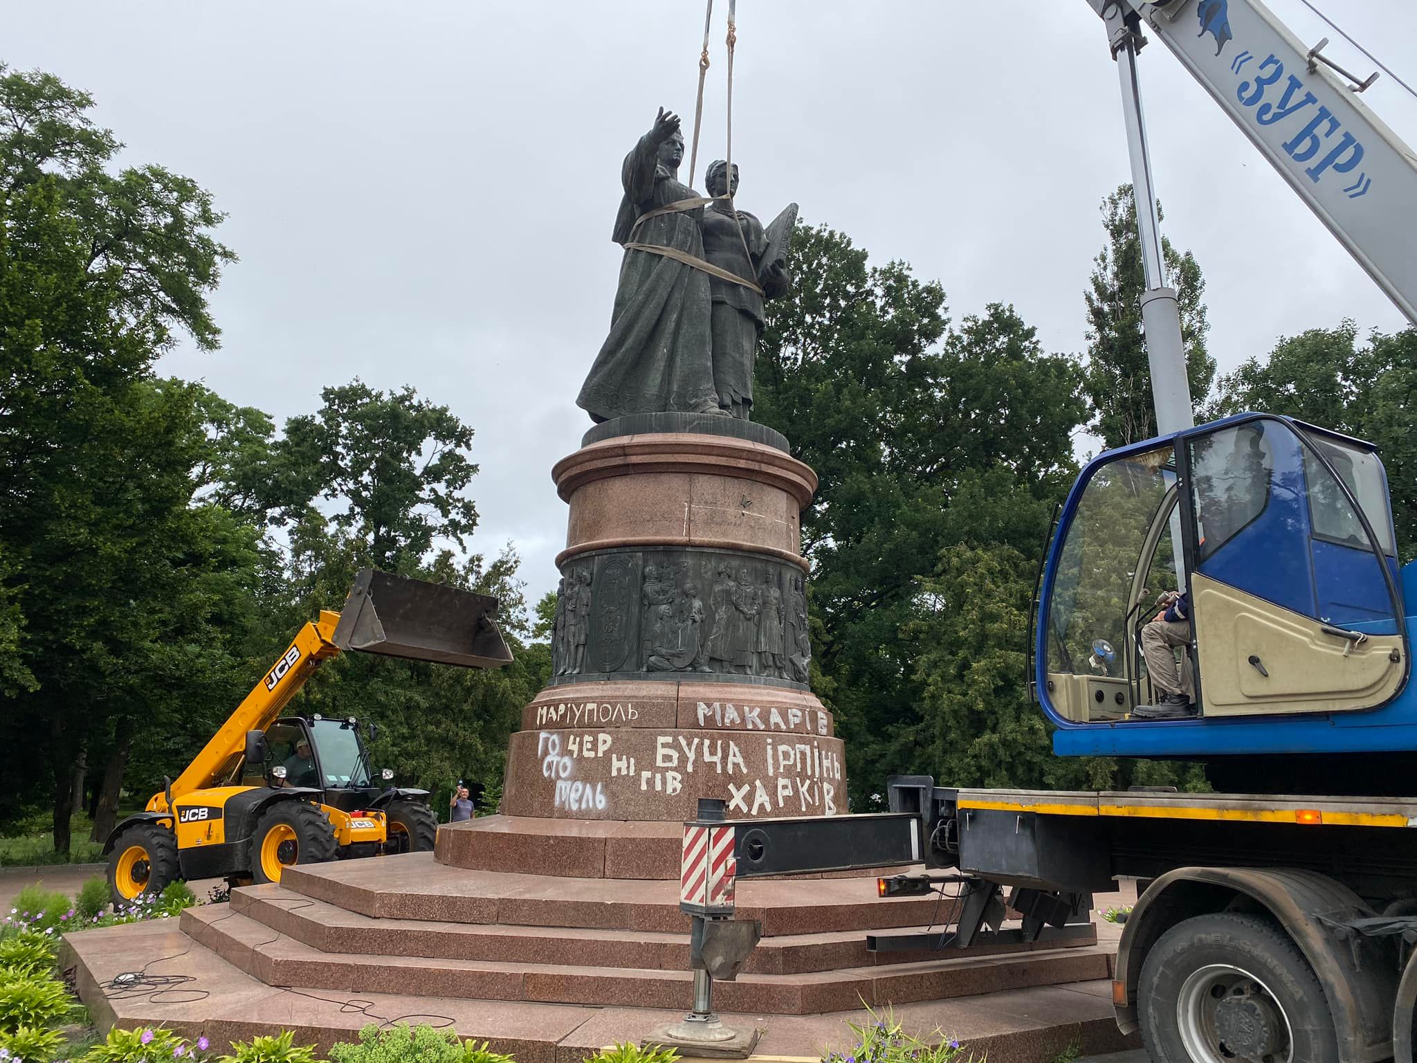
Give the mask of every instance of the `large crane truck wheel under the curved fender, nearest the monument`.
[[1196, 916], [1142, 965], [1142, 1043], [1156, 1063], [1339, 1063], [1323, 988], [1274, 923]]

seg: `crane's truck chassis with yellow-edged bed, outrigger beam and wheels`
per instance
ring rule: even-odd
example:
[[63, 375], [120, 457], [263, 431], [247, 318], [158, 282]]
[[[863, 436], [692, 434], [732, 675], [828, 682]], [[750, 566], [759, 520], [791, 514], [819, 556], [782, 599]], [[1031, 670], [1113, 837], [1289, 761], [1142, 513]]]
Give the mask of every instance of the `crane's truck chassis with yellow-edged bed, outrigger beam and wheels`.
[[[1158, 1063], [1209, 1060], [1209, 1043], [1227, 1059], [1410, 1063], [1417, 798], [952, 789], [917, 775], [888, 795], [874, 815], [723, 822], [701, 806], [686, 831], [731, 831], [737, 877], [924, 865], [883, 876], [880, 893], [939, 892], [954, 901], [944, 926], [874, 934], [874, 952], [1068, 937], [1094, 893], [1136, 879], [1112, 1003]], [[1002, 926], [1007, 913], [1020, 927]], [[1187, 1029], [1197, 1016], [1210, 1028]]]

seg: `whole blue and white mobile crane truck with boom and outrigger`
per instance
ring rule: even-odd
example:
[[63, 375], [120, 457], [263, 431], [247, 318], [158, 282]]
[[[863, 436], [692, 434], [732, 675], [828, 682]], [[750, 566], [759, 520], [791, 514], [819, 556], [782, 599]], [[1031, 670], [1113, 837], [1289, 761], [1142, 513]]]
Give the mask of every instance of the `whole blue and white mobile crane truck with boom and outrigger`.
[[[1399, 568], [1372, 445], [1268, 414], [1193, 425], [1136, 79], [1144, 28], [1414, 323], [1417, 156], [1357, 99], [1372, 78], [1340, 81], [1357, 79], [1326, 41], [1305, 48], [1258, 0], [1088, 4], [1121, 79], [1161, 435], [1077, 478], [1040, 574], [1030, 680], [1056, 754], [1200, 760], [1237, 792], [896, 777], [887, 814], [738, 823], [701, 802], [686, 859], [689, 832], [707, 828], [716, 852], [731, 831], [733, 860], [716, 887], [727, 903], [682, 899], [703, 920], [690, 1018], [711, 1018], [713, 977], [734, 977], [757, 940], [728, 918], [734, 874], [922, 863], [925, 874], [880, 879], [880, 893], [955, 883], [952, 928], [877, 934], [867, 948], [1066, 935], [1094, 892], [1135, 877], [1112, 1002], [1155, 1063], [1411, 1063], [1417, 561]], [[1158, 591], [1182, 588], [1197, 712], [1142, 719], [1155, 692], [1138, 631]], [[1005, 887], [1017, 928], [1000, 930]]]

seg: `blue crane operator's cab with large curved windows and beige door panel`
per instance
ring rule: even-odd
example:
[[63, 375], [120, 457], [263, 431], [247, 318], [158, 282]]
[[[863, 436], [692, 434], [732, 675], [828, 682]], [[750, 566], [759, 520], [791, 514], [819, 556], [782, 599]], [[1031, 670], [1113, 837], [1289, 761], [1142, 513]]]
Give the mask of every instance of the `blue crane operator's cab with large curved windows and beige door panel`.
[[[1039, 592], [1032, 675], [1054, 751], [1231, 763], [1417, 751], [1404, 584], [1417, 601], [1370, 444], [1240, 414], [1108, 451], [1073, 485]], [[1176, 663], [1195, 714], [1144, 720], [1134, 710], [1161, 692], [1141, 632], [1178, 590], [1192, 624]]]

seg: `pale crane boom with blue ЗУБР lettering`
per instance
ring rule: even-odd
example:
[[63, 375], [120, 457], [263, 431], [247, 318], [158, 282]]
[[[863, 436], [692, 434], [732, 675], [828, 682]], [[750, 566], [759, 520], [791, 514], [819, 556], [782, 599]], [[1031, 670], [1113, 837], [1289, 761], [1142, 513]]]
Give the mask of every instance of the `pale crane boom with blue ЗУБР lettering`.
[[1417, 154], [1260, 0], [1088, 0], [1146, 23], [1417, 325]]

